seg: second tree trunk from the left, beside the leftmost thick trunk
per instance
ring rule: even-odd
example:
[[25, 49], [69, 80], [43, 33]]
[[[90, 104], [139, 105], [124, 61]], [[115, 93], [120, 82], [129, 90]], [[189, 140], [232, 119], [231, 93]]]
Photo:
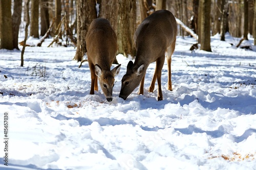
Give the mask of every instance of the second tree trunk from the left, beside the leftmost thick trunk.
[[14, 0], [13, 14], [12, 14], [12, 34], [13, 34], [13, 47], [18, 48], [18, 32], [19, 25], [22, 20], [22, 0]]

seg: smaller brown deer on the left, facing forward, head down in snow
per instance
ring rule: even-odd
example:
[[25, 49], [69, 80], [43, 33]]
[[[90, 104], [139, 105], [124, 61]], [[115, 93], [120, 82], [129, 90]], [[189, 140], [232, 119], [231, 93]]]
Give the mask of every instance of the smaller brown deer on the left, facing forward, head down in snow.
[[106, 100], [111, 102], [115, 76], [119, 74], [121, 64], [111, 70], [117, 52], [117, 36], [109, 20], [97, 18], [91, 22], [86, 48], [91, 72], [90, 94], [98, 91], [98, 78]]

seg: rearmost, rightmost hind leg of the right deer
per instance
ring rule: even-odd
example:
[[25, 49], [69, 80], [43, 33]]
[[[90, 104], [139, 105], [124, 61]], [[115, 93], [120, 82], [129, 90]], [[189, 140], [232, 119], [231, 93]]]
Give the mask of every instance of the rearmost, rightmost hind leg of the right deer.
[[172, 72], [171, 72], [171, 63], [172, 63], [172, 55], [174, 53], [175, 49], [175, 42], [174, 41], [168, 48], [167, 48], [167, 71], [168, 71], [168, 82], [167, 82], [167, 89], [170, 91], [173, 91], [172, 87]]

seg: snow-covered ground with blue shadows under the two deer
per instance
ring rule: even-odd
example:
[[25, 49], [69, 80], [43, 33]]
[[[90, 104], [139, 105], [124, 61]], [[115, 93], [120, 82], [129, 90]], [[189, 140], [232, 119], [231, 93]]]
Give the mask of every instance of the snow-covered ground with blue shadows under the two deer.
[[165, 63], [159, 102], [157, 89], [147, 92], [155, 63], [144, 95], [136, 88], [124, 101], [118, 95], [131, 58], [118, 55], [108, 102], [100, 87], [89, 94], [88, 63], [78, 68], [74, 47], [47, 47], [52, 39], [26, 47], [24, 67], [20, 51], [0, 50], [0, 169], [256, 169], [256, 49], [230, 45], [239, 40], [217, 35], [212, 53], [191, 53], [195, 40], [178, 37], [173, 91], [166, 89]]

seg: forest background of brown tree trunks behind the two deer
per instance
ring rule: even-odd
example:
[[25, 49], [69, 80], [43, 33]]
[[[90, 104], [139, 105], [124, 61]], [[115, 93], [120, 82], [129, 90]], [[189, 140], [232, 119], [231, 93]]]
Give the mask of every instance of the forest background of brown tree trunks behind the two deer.
[[[160, 9], [171, 11], [178, 19], [178, 34], [195, 37], [201, 50], [210, 52], [210, 36], [220, 34], [224, 41], [227, 32], [241, 37], [241, 42], [253, 36], [256, 43], [255, 0], [1, 0], [0, 6], [0, 48], [18, 49], [18, 43], [40, 46], [51, 36], [54, 39], [49, 46], [75, 46], [77, 61], [82, 61], [86, 53], [85, 37], [94, 18], [109, 19], [118, 37], [117, 54], [134, 57], [136, 28]], [[24, 41], [18, 42], [22, 31]], [[38, 38], [38, 43], [29, 43], [28, 37]]]

